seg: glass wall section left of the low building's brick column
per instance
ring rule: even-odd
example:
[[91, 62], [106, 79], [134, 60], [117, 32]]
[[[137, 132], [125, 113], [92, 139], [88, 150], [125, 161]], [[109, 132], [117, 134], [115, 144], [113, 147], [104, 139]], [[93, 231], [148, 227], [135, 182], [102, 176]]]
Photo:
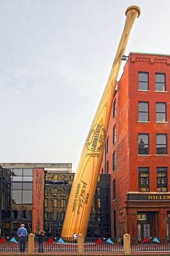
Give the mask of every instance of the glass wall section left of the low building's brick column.
[[20, 223], [32, 227], [32, 169], [1, 168], [0, 230], [14, 236]]

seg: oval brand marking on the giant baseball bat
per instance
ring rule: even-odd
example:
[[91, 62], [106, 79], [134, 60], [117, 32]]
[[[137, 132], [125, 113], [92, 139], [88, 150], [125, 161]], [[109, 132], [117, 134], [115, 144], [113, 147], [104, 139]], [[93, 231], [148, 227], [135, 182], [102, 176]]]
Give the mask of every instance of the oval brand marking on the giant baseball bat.
[[89, 132], [86, 148], [93, 152], [99, 152], [104, 148], [106, 129], [102, 124], [95, 124]]

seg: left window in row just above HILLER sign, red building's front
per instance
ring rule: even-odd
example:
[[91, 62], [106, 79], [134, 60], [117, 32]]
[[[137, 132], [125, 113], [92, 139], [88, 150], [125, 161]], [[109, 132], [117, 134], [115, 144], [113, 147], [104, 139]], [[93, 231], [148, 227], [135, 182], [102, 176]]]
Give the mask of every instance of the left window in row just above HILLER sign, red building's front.
[[149, 168], [140, 167], [138, 168], [139, 173], [139, 191], [149, 192]]

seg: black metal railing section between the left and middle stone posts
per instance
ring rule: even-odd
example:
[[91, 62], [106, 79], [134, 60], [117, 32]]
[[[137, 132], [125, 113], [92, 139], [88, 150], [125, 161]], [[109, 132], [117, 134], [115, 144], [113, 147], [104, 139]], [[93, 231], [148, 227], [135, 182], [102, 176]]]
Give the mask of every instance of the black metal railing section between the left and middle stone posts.
[[73, 242], [73, 237], [47, 237], [38, 241], [35, 236], [35, 252], [78, 252], [78, 244]]

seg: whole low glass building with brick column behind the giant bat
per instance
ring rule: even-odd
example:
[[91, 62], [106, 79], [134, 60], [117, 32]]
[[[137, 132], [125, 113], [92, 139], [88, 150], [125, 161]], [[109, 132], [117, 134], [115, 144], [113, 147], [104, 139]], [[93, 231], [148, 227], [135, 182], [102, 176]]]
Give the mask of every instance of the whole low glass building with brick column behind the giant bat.
[[[60, 236], [73, 178], [71, 163], [1, 163], [1, 235], [16, 235], [24, 223], [29, 233]], [[99, 176], [88, 236], [110, 236], [109, 178]]]

